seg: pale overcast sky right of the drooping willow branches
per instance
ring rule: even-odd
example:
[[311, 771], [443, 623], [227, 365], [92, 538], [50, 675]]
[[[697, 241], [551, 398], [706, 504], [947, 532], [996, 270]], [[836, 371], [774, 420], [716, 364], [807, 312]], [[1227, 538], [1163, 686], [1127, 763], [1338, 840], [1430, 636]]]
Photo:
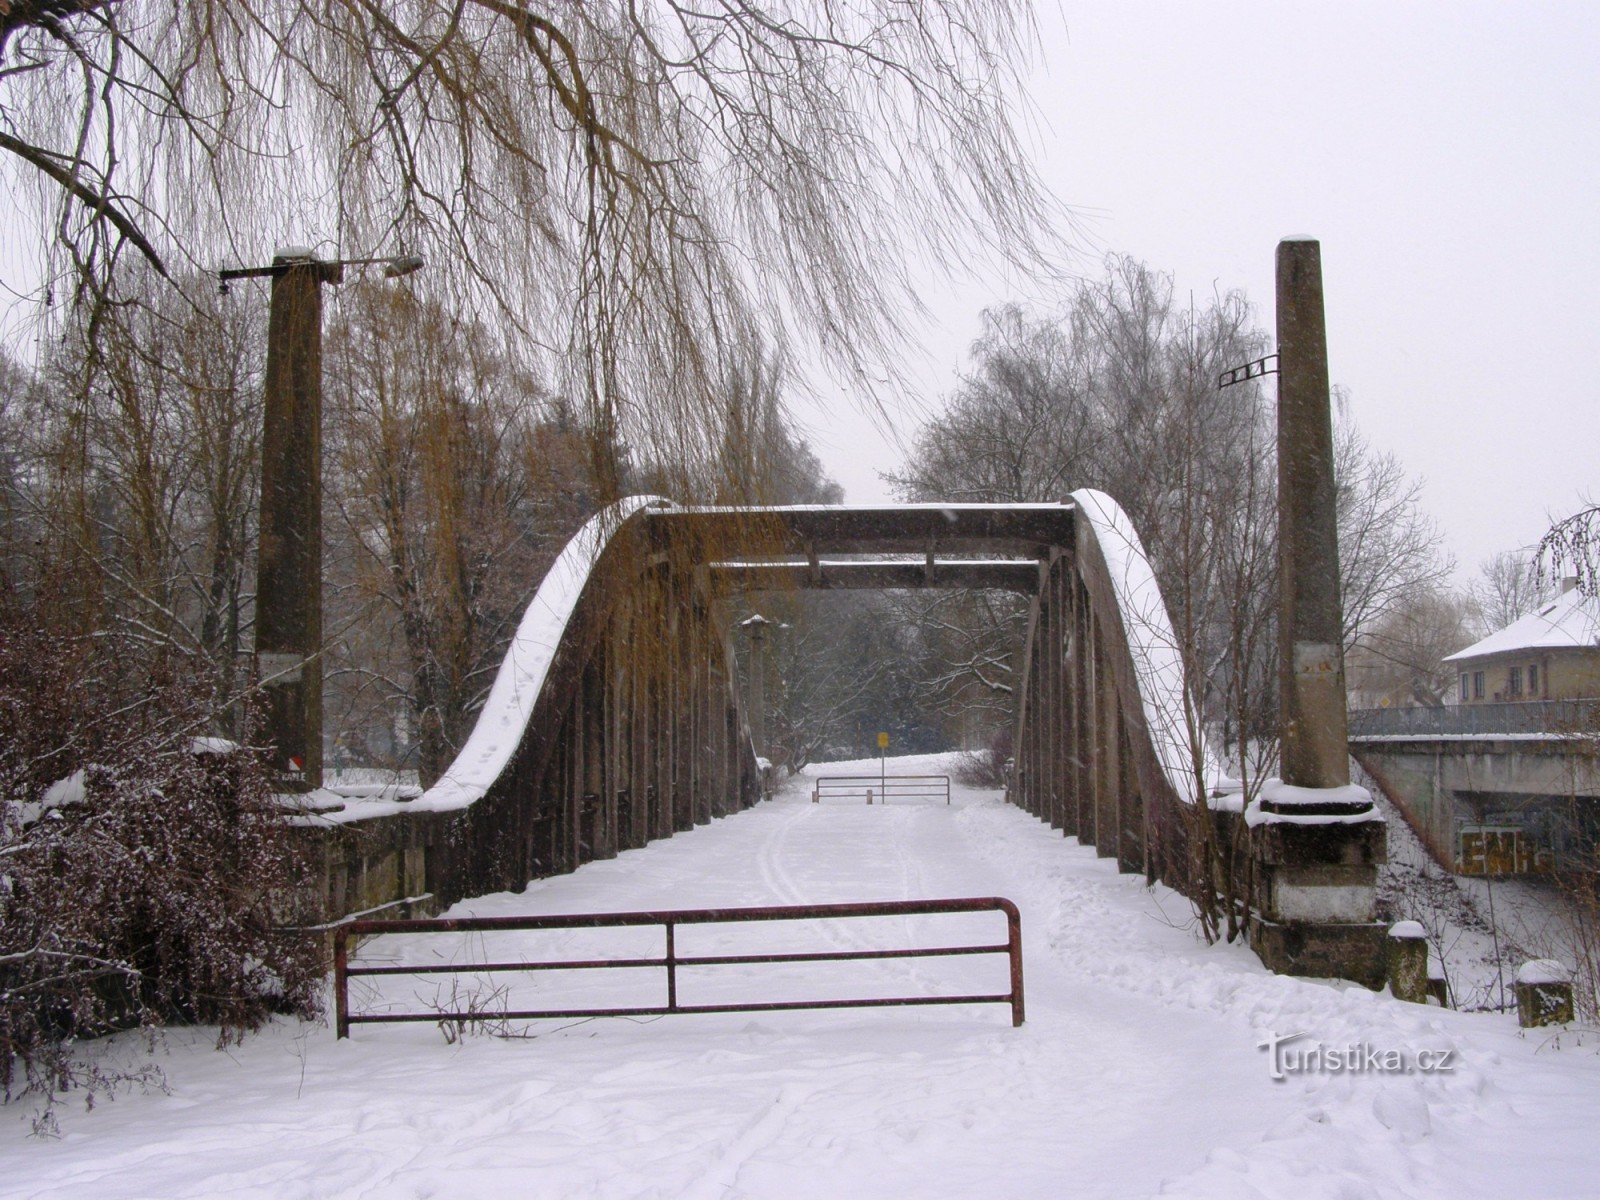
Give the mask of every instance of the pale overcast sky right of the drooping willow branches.
[[[1243, 288], [1270, 331], [1277, 240], [1312, 234], [1333, 381], [1426, 480], [1462, 578], [1600, 501], [1600, 3], [1045, 0], [1040, 34], [1029, 128], [1086, 274], [1125, 251], [1179, 294]], [[930, 294], [923, 403], [1016, 298]], [[888, 498], [893, 437], [821, 408], [848, 499]]]

